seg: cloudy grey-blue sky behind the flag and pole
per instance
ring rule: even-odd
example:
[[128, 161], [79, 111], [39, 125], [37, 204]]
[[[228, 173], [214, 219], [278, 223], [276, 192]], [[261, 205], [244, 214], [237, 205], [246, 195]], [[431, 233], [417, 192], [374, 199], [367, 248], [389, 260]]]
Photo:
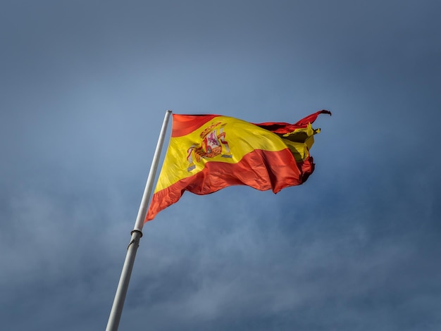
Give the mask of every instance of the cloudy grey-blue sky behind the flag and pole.
[[2, 330], [104, 330], [163, 115], [294, 123], [316, 170], [144, 226], [120, 330], [440, 330], [438, 1], [3, 1]]

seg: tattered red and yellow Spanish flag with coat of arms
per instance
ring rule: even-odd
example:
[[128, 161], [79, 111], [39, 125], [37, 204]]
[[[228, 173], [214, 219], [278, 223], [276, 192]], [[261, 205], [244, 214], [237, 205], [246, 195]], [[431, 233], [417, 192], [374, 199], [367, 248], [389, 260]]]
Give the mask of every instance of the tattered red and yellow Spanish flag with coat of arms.
[[311, 123], [252, 124], [222, 115], [173, 114], [166, 158], [145, 221], [175, 204], [185, 191], [209, 194], [231, 185], [274, 193], [301, 185], [313, 173]]

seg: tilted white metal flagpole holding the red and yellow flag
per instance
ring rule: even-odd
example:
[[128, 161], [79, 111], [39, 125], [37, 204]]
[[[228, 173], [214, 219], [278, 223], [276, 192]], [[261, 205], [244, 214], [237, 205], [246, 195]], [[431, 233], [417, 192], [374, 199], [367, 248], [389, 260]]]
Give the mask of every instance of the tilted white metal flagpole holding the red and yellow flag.
[[125, 300], [125, 294], [129, 286], [130, 275], [132, 275], [133, 263], [135, 262], [136, 251], [139, 246], [139, 239], [142, 237], [142, 227], [144, 226], [144, 219], [147, 213], [147, 206], [151, 197], [151, 191], [153, 188], [154, 178], [156, 176], [156, 170], [158, 169], [159, 158], [161, 156], [161, 150], [166, 137], [168, 120], [170, 119], [171, 111], [166, 111], [164, 117], [161, 133], [159, 134], [158, 144], [156, 145], [156, 151], [151, 161], [151, 168], [149, 177], [147, 177], [147, 183], [142, 195], [141, 204], [139, 206], [138, 215], [135, 221], [135, 227], [133, 227], [130, 234], [130, 244], [127, 248], [127, 254], [121, 271], [120, 281], [118, 288], [116, 289], [115, 299], [113, 299], [113, 305], [110, 316], [108, 316], [108, 322], [106, 331], [117, 331], [120, 323], [121, 313], [123, 313], [123, 306]]

